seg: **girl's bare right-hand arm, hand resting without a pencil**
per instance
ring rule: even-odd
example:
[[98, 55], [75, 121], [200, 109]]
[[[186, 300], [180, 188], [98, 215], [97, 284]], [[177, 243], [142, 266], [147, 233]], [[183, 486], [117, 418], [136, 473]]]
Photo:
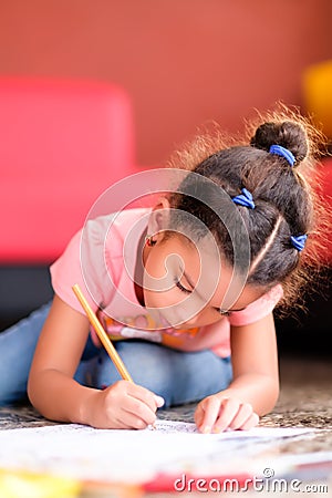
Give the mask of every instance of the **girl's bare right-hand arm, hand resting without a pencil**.
[[279, 395], [278, 353], [272, 313], [243, 326], [231, 328], [234, 381], [203, 400], [195, 422], [201, 432], [251, 428], [273, 408]]

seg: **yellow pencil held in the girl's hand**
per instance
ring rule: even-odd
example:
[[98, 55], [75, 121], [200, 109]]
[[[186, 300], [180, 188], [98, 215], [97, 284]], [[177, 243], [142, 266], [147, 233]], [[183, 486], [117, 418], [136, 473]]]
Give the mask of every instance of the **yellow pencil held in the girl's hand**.
[[76, 298], [79, 299], [80, 303], [82, 304], [82, 308], [84, 309], [85, 313], [87, 314], [90, 323], [94, 328], [94, 330], [95, 330], [95, 332], [96, 332], [101, 343], [103, 344], [103, 346], [107, 351], [108, 356], [113, 361], [113, 363], [116, 366], [116, 369], [117, 369], [120, 375], [122, 376], [122, 378], [124, 381], [134, 382], [133, 378], [131, 377], [127, 369], [125, 367], [123, 361], [121, 360], [116, 349], [112, 344], [111, 339], [108, 338], [108, 335], [104, 331], [103, 325], [101, 324], [101, 322], [98, 321], [96, 314], [93, 312], [93, 310], [91, 309], [89, 302], [84, 298], [84, 295], [83, 295], [83, 293], [82, 293], [82, 291], [80, 289], [80, 286], [77, 283], [75, 283], [75, 286], [73, 287], [73, 291], [74, 291]]

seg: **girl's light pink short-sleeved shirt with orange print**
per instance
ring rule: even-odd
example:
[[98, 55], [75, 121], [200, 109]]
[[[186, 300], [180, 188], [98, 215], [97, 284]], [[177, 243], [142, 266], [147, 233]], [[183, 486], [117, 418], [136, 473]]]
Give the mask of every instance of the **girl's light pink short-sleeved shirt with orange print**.
[[[72, 290], [79, 283], [112, 340], [139, 338], [183, 351], [210, 349], [228, 356], [230, 325], [247, 325], [268, 315], [282, 297], [282, 287], [273, 287], [245, 310], [211, 325], [184, 331], [160, 329], [137, 301], [134, 288], [138, 241], [149, 212], [146, 208], [128, 209], [90, 220], [51, 267], [54, 292], [84, 313]], [[98, 344], [94, 331], [92, 338]]]

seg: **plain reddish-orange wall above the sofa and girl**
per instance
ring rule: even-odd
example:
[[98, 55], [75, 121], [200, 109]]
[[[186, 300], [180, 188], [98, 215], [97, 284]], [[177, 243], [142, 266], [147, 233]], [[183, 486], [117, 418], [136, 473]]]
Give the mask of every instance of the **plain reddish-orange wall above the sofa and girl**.
[[330, 0], [1, 0], [0, 73], [120, 84], [137, 163], [159, 165], [207, 121], [238, 131], [255, 107], [302, 105], [331, 20]]

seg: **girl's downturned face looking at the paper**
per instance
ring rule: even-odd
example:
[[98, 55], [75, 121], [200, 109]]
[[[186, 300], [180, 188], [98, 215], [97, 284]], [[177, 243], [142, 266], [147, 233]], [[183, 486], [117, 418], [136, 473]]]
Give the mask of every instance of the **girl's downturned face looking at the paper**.
[[258, 299], [261, 289], [239, 286], [231, 305], [227, 289], [232, 269], [207, 243], [194, 246], [180, 236], [157, 236], [144, 249], [144, 300], [165, 326], [195, 328], [219, 321], [229, 311], [241, 310]]

